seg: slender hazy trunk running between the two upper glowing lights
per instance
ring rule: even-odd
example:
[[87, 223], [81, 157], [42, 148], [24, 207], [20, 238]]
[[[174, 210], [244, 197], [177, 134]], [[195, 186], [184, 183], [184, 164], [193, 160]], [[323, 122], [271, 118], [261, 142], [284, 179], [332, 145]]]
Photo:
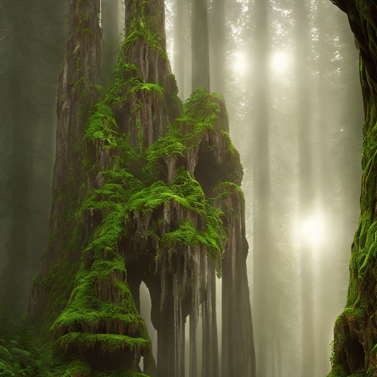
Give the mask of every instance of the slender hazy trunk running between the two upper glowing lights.
[[258, 59], [257, 70], [252, 76], [255, 102], [253, 145], [253, 273], [254, 273], [254, 322], [256, 338], [257, 376], [267, 377], [270, 364], [271, 317], [269, 307], [271, 218], [270, 218], [270, 159], [269, 159], [269, 2], [254, 2], [252, 17], [255, 24]]

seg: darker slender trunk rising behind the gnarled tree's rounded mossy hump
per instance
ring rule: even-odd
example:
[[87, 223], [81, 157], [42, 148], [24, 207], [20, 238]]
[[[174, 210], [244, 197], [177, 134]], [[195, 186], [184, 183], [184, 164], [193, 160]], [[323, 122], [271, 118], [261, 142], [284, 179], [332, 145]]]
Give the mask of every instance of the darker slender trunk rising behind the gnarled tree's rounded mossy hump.
[[192, 1], [191, 20], [191, 90], [210, 90], [210, 53], [207, 0]]

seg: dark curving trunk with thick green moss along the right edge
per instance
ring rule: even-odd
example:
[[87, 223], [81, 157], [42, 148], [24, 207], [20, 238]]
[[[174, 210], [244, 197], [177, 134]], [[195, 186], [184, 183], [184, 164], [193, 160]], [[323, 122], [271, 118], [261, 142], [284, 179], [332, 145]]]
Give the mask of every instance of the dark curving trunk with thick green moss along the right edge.
[[360, 53], [365, 123], [361, 216], [351, 248], [350, 286], [334, 330], [329, 377], [377, 375], [377, 5], [368, 0], [333, 0], [347, 13]]

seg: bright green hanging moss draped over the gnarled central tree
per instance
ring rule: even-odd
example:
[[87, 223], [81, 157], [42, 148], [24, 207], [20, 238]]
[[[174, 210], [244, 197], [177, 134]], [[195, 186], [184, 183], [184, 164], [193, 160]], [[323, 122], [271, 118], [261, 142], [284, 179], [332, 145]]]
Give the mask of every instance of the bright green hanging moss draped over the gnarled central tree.
[[[55, 189], [55, 200], [67, 204], [62, 221], [67, 232], [47, 277], [34, 281], [36, 292], [52, 285], [40, 329], [41, 334], [49, 332], [51, 340], [44, 353], [49, 357], [41, 363], [45, 376], [145, 376], [125, 370], [96, 372], [83, 356], [86, 350], [113, 356], [124, 352], [132, 356], [136, 370], [140, 355], [151, 355], [151, 341], [127, 283], [127, 253], [148, 253], [161, 275], [174, 273], [174, 284], [183, 285], [190, 274], [187, 287], [174, 294], [174, 307], [189, 285], [195, 315], [208, 289], [205, 274], [215, 267], [221, 274], [227, 215], [217, 205], [240, 190], [242, 165], [228, 134], [222, 96], [197, 88], [185, 103], [177, 97], [175, 77], [166, 68], [162, 17], [149, 5], [136, 0], [130, 4], [128, 34], [113, 83], [107, 88], [92, 85], [99, 99], [90, 109], [81, 109], [81, 119], [87, 119], [75, 149], [81, 174], [70, 183], [79, 197]], [[91, 38], [85, 22], [86, 16], [79, 14], [77, 32]], [[153, 67], [145, 69], [137, 60], [140, 49], [154, 59], [151, 66], [159, 62], [165, 71], [160, 65], [157, 73], [150, 72]], [[136, 58], [131, 59], [132, 54]], [[81, 63], [75, 61], [78, 71]], [[81, 98], [86, 96], [84, 84], [83, 78], [72, 83]], [[195, 179], [195, 166], [207, 155], [221, 174], [204, 192]], [[138, 246], [125, 250], [125, 244]], [[144, 247], [147, 244], [153, 247]], [[190, 270], [172, 272], [173, 254], [187, 258], [183, 265]], [[199, 269], [200, 264], [205, 269]], [[162, 293], [161, 301], [165, 296]], [[176, 313], [174, 321], [178, 323]]]

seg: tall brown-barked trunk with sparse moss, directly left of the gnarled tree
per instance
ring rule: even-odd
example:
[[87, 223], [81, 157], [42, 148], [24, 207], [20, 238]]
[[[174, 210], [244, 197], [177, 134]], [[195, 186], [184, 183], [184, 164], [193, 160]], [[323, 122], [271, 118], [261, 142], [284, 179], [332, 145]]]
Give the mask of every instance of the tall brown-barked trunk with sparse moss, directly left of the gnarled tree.
[[[56, 158], [54, 165], [54, 200], [50, 214], [49, 240], [29, 298], [29, 316], [36, 321], [49, 306], [60, 311], [69, 298], [70, 282], [56, 280], [52, 273], [64, 256], [66, 273], [74, 276], [81, 258], [67, 244], [69, 237], [80, 242], [83, 235], [73, 234], [73, 215], [79, 208], [81, 154], [78, 146], [92, 101], [96, 101], [94, 84], [100, 82], [102, 66], [102, 31], [99, 26], [99, 0], [70, 2], [64, 65], [59, 76], [57, 94]], [[64, 253], [69, 248], [69, 255]], [[63, 254], [62, 254], [63, 253]], [[59, 288], [54, 287], [57, 284]], [[67, 291], [66, 291], [67, 290]], [[59, 301], [55, 301], [60, 296]], [[56, 307], [55, 307], [56, 305]]]

